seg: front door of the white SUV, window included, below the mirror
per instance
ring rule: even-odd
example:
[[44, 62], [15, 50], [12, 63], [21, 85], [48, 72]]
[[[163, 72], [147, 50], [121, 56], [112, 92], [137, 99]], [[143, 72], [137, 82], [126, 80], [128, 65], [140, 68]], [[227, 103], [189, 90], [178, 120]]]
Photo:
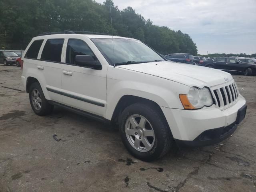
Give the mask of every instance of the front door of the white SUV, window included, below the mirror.
[[63, 64], [62, 98], [64, 104], [105, 117], [106, 115], [106, 66], [96, 70], [75, 64], [76, 55], [96, 56], [79, 39], [66, 40], [65, 64]]

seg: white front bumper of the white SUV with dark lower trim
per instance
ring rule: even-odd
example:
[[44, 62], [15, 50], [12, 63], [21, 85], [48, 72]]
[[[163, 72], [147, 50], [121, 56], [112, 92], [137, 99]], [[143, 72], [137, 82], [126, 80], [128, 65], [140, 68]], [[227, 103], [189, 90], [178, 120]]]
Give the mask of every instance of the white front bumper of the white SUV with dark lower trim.
[[244, 106], [240, 95], [236, 104], [225, 110], [215, 105], [199, 110], [161, 108], [178, 144], [205, 146], [224, 140], [236, 130], [238, 111]]

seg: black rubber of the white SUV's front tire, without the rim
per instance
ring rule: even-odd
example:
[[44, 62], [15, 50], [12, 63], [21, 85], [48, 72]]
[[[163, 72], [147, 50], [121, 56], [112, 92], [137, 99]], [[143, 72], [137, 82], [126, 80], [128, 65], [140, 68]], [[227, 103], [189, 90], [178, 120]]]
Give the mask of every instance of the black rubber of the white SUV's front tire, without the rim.
[[[134, 114], [145, 117], [154, 129], [155, 140], [152, 148], [147, 152], [136, 150], [128, 141], [125, 133], [126, 121]], [[124, 109], [119, 117], [119, 131], [122, 142], [127, 150], [136, 158], [143, 161], [152, 161], [164, 156], [174, 143], [172, 133], [162, 112], [153, 105], [135, 103]]]

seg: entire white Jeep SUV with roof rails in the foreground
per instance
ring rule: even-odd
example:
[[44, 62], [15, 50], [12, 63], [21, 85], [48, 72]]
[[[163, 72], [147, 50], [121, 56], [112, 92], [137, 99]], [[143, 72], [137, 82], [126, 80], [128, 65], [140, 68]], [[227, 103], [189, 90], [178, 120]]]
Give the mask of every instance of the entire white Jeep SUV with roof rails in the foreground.
[[230, 74], [166, 61], [132, 38], [43, 34], [32, 39], [22, 62], [37, 115], [58, 105], [118, 124], [128, 151], [145, 161], [162, 157], [174, 143], [218, 143], [246, 114]]

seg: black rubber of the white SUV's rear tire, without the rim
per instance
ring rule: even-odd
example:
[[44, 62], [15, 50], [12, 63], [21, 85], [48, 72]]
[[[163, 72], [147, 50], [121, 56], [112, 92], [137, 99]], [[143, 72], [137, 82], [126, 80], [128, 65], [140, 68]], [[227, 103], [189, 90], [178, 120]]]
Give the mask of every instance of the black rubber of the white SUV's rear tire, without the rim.
[[[41, 97], [41, 107], [40, 109], [36, 109], [33, 102], [32, 102], [32, 92], [33, 90], [37, 90], [40, 94], [40, 97]], [[38, 82], [34, 82], [30, 88], [29, 88], [29, 100], [30, 100], [30, 105], [33, 109], [33, 111], [35, 112], [35, 114], [39, 115], [39, 116], [45, 116], [45, 115], [48, 115], [52, 112], [53, 110], [53, 105], [49, 104], [47, 102], [47, 100], [45, 99], [44, 97], [44, 93], [42, 91], [42, 88], [40, 86], [40, 84]]]

